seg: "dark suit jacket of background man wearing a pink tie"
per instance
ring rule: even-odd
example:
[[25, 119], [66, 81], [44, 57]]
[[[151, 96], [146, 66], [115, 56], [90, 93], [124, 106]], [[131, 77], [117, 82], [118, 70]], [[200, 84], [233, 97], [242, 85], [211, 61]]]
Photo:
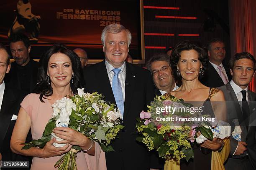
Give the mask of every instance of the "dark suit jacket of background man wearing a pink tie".
[[[223, 66], [228, 75], [228, 81], [230, 81], [232, 79], [232, 76], [230, 75], [230, 69], [225, 65]], [[212, 66], [212, 64], [209, 61], [208, 61], [208, 70], [205, 71], [205, 74], [203, 75], [200, 82], [202, 82], [202, 84], [204, 84], [207, 87], [220, 87], [225, 85], [220, 75], [218, 74], [218, 72], [215, 70], [215, 68]]]

